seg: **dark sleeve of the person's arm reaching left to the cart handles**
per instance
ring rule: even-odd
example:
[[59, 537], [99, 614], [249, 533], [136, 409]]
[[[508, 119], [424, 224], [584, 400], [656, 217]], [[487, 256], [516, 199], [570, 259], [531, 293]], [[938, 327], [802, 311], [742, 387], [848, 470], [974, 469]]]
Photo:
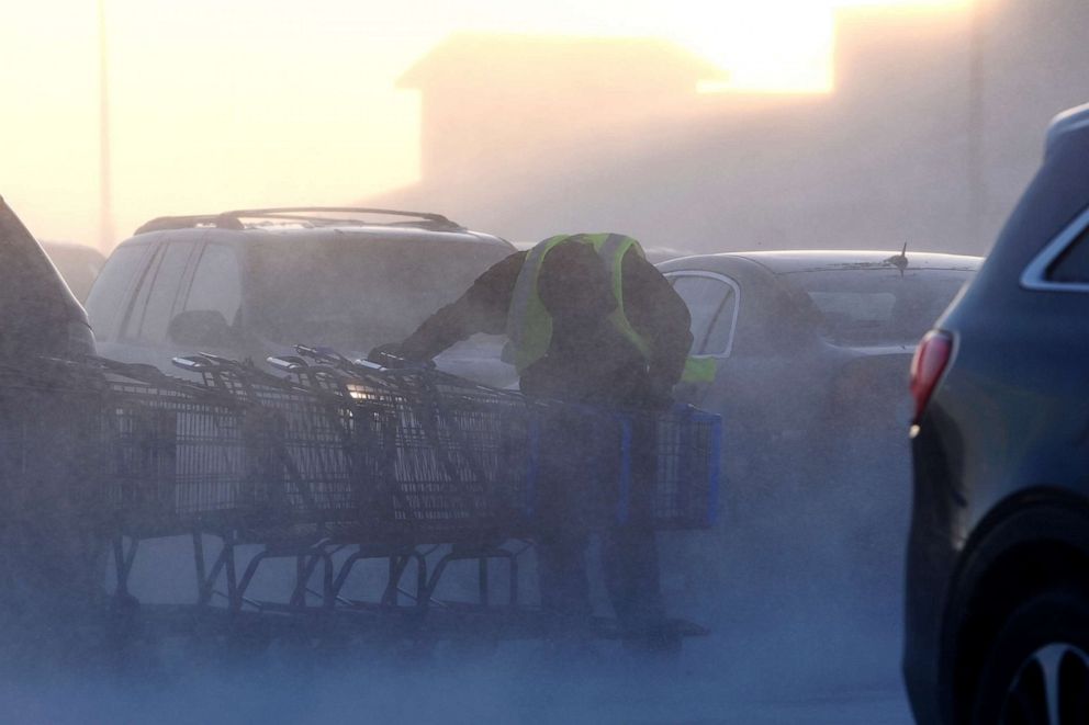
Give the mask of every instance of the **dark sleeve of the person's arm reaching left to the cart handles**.
[[401, 343], [400, 353], [413, 360], [430, 360], [476, 332], [505, 332], [514, 285], [527, 253], [515, 252], [490, 267], [463, 295], [424, 320]]

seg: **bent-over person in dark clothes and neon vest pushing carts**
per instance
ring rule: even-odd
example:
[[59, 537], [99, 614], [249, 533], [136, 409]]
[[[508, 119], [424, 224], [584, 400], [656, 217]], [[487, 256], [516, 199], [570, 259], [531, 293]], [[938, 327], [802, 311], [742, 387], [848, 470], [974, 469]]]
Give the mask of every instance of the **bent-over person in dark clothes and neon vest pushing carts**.
[[[639, 243], [618, 234], [559, 235], [513, 253], [404, 341], [375, 351], [430, 360], [478, 332], [507, 335], [505, 358], [527, 396], [649, 411], [672, 404], [692, 343], [684, 301]], [[575, 522], [576, 484], [586, 475], [579, 452], [588, 431], [570, 409], [558, 416], [542, 430], [541, 600], [548, 610], [588, 621], [586, 533]], [[653, 439], [645, 428], [636, 426], [633, 434], [636, 487], [653, 474]], [[635, 642], [670, 639], [649, 516], [630, 517], [606, 532], [602, 555], [621, 630]]]

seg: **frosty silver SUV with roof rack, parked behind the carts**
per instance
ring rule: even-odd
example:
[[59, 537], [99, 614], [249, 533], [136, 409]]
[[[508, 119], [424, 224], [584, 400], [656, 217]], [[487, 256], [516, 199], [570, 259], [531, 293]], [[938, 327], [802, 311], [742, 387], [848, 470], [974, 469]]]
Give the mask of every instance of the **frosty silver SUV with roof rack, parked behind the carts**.
[[[438, 214], [278, 208], [148, 222], [113, 252], [87, 301], [101, 354], [169, 370], [212, 352], [261, 363], [295, 343], [349, 355], [397, 341], [453, 302], [507, 241]], [[506, 385], [497, 338], [436, 362]]]

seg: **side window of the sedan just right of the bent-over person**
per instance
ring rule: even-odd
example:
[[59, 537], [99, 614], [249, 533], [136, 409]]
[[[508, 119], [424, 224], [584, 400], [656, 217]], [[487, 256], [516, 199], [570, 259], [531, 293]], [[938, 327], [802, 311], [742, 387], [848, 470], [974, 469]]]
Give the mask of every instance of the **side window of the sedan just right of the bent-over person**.
[[671, 280], [692, 315], [689, 354], [729, 355], [738, 321], [737, 283], [710, 272], [677, 273]]

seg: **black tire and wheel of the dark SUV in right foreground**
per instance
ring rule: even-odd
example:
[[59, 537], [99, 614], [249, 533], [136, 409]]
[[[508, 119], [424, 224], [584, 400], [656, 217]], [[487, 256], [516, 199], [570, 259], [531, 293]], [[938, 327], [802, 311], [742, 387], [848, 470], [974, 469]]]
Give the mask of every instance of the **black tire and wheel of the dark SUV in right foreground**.
[[1056, 586], [1017, 607], [970, 705], [976, 725], [1089, 723], [1089, 588]]

